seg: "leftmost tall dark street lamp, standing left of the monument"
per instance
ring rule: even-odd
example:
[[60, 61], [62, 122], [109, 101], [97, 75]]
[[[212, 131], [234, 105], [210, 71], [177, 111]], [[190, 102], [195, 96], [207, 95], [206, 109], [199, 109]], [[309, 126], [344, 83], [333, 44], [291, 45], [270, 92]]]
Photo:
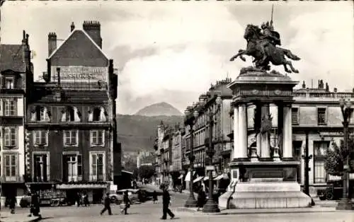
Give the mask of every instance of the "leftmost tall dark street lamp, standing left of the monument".
[[[189, 111], [185, 110], [185, 116], [188, 119], [188, 114]], [[195, 156], [193, 155], [193, 126], [195, 124], [195, 119], [197, 119], [199, 116], [199, 112], [197, 110], [195, 110], [193, 112], [193, 117], [192, 120], [190, 122], [188, 122], [190, 130], [189, 130], [189, 134], [190, 134], [190, 138], [189, 138], [189, 144], [190, 144], [190, 152], [189, 152], [189, 172], [190, 172], [190, 181], [189, 181], [189, 197], [187, 199], [187, 201], [185, 201], [184, 206], [185, 207], [197, 207], [197, 200], [194, 197], [194, 192], [193, 192], [193, 169], [194, 169], [194, 160], [195, 160]]]

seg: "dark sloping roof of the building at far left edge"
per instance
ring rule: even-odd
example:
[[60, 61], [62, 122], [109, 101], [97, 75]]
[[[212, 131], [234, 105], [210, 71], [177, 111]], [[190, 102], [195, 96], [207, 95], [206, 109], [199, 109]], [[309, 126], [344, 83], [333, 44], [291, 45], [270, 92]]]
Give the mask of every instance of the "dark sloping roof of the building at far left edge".
[[22, 45], [0, 45], [0, 71], [25, 72]]

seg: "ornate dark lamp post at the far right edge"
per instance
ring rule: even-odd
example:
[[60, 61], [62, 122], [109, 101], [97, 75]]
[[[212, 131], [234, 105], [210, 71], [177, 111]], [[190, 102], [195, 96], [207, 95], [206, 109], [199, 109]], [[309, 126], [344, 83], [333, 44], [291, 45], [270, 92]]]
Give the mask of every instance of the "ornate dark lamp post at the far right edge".
[[341, 105], [341, 111], [343, 115], [343, 134], [344, 134], [344, 148], [346, 150], [346, 161], [344, 163], [343, 167], [343, 197], [341, 200], [338, 202], [338, 205], [336, 207], [337, 210], [353, 210], [353, 204], [351, 203], [351, 199], [349, 197], [349, 172], [350, 172], [350, 167], [349, 167], [349, 158], [350, 158], [350, 151], [348, 147], [348, 137], [349, 137], [349, 132], [348, 132], [348, 126], [350, 122], [350, 115], [352, 114], [353, 110], [351, 109], [351, 103], [350, 100], [346, 101], [344, 99], [340, 100], [340, 105]]

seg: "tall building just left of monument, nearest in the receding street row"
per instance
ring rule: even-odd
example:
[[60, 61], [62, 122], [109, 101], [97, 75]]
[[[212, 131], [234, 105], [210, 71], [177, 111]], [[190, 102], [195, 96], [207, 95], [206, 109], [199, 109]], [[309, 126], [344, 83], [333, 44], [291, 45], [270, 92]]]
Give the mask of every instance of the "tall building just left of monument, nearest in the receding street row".
[[[207, 110], [212, 112], [217, 111], [216, 99], [219, 96], [222, 100], [220, 109], [215, 113], [214, 126], [212, 126], [212, 141], [214, 145], [215, 154], [213, 156], [213, 165], [215, 166], [214, 175], [221, 173], [228, 173], [229, 168], [227, 162], [230, 159], [230, 153], [232, 150], [232, 142], [229, 138], [229, 134], [232, 132], [230, 128], [231, 117], [229, 115], [232, 90], [227, 88], [227, 85], [231, 83], [230, 78], [226, 78], [222, 81], [217, 81], [215, 85], [212, 85], [207, 93], [200, 95], [199, 102], [195, 105], [187, 107], [188, 115], [185, 119], [186, 135], [186, 151], [185, 151], [185, 164], [189, 164], [188, 156], [190, 150], [193, 150], [195, 156], [194, 168], [199, 176], [206, 175], [205, 172], [205, 159], [207, 144], [209, 143], [209, 116]], [[198, 112], [198, 116], [195, 118], [193, 113]], [[190, 147], [190, 130], [188, 122], [193, 121], [193, 147]]]

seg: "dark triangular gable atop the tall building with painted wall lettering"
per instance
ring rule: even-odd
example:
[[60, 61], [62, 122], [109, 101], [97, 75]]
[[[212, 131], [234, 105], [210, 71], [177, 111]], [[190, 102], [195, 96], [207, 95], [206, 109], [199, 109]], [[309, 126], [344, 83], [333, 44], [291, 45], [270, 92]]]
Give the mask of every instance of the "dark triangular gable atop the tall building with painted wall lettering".
[[73, 30], [48, 58], [52, 66], [108, 66], [108, 57], [84, 30]]

